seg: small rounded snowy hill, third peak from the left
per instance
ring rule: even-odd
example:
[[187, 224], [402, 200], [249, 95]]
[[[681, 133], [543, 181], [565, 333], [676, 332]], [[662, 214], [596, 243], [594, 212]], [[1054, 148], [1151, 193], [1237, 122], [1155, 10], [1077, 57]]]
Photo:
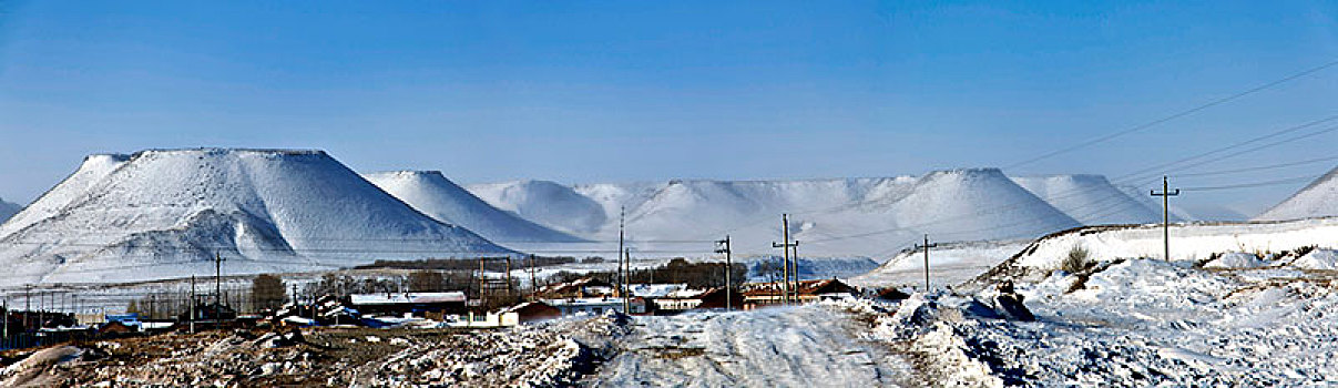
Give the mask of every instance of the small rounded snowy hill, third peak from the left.
[[[535, 223], [589, 237], [609, 221], [603, 207], [571, 187], [549, 181], [468, 185], [479, 199]], [[618, 214], [613, 214], [617, 222]]]

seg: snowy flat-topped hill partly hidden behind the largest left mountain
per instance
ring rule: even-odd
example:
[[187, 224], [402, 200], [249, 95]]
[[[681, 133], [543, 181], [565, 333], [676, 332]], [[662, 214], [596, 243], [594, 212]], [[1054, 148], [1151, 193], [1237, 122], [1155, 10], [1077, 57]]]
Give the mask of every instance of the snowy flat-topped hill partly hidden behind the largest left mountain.
[[582, 241], [526, 221], [483, 202], [440, 171], [389, 171], [363, 174], [385, 193], [438, 221], [464, 226], [496, 242], [574, 242]]

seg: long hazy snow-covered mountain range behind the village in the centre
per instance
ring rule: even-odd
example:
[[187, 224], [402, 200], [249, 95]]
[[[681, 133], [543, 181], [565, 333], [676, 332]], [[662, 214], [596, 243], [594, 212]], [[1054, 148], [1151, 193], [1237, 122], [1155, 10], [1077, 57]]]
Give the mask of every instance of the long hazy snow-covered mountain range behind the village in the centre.
[[[638, 249], [698, 256], [725, 234], [733, 237], [736, 253], [779, 253], [771, 242], [780, 239], [783, 213], [791, 214], [801, 256], [828, 257], [890, 256], [923, 233], [950, 241], [994, 239], [1080, 225], [997, 169], [919, 178], [578, 186], [524, 181], [468, 189], [499, 209], [589, 239], [615, 238], [618, 211], [625, 209], [628, 237], [640, 241]], [[546, 206], [549, 201], [555, 205]]]

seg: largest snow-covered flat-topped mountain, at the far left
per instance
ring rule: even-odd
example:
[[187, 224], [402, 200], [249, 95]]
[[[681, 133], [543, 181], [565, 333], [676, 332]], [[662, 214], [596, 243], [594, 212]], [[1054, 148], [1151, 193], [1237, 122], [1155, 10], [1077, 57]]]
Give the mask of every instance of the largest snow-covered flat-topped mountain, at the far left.
[[153, 150], [112, 165], [100, 179], [82, 167], [5, 223], [0, 284], [186, 277], [213, 272], [215, 253], [229, 274], [510, 253], [324, 151]]

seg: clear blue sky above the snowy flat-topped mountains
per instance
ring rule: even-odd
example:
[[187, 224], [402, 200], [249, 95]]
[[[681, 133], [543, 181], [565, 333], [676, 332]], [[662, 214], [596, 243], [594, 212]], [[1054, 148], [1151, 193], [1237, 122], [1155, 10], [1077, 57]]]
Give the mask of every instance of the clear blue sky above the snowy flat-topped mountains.
[[[1335, 59], [1334, 1], [0, 0], [0, 198], [86, 154], [199, 146], [462, 183], [1009, 166]], [[1338, 114], [1335, 91], [1330, 68], [1006, 173], [1116, 177]], [[1177, 201], [1258, 210], [1299, 186]]]

